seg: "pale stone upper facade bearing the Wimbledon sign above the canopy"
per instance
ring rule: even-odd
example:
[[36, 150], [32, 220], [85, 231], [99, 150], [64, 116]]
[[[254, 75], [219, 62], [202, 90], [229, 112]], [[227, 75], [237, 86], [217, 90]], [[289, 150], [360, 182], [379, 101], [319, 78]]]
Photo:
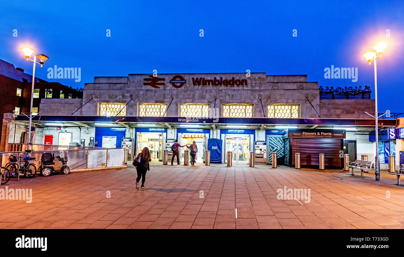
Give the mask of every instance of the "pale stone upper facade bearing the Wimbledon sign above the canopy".
[[[185, 82], [170, 83], [173, 79], [183, 79]], [[228, 83], [225, 83], [225, 80]], [[156, 77], [151, 74], [95, 77], [94, 83], [84, 85], [83, 99], [62, 99], [63, 101], [44, 99], [41, 102], [41, 113], [70, 115], [90, 98], [94, 99], [75, 115], [97, 115], [100, 102], [127, 103], [130, 99], [132, 101], [126, 106], [126, 116], [138, 115], [138, 103], [155, 102], [168, 105], [171, 99], [173, 102], [166, 114], [169, 117], [179, 116], [181, 103], [209, 103], [210, 108], [215, 107], [219, 111], [217, 115], [219, 117], [222, 116], [222, 104], [227, 103], [254, 104], [253, 117], [264, 117], [262, 109], [267, 117], [267, 104], [299, 104], [301, 118], [317, 118], [316, 111], [306, 99], [310, 100], [321, 118], [323, 116], [324, 118], [366, 118], [363, 115], [364, 111], [374, 109], [373, 100], [320, 100], [318, 82], [308, 82], [307, 75], [251, 73], [250, 77], [247, 77], [246, 73], [193, 73], [157, 74]], [[49, 112], [46, 111], [45, 106], [51, 106]]]

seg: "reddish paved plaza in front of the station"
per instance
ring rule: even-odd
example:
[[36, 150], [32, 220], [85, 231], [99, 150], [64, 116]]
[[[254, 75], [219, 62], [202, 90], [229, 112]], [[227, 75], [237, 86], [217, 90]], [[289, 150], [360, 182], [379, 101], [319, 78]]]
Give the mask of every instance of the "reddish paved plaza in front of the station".
[[[372, 172], [360, 178], [285, 166], [161, 164], [151, 163], [141, 190], [129, 163], [118, 170], [11, 178], [0, 188], [32, 188], [33, 199], [0, 200], [0, 228], [404, 228], [404, 187], [385, 172], [375, 181]], [[310, 189], [310, 201], [278, 199], [284, 186]]]

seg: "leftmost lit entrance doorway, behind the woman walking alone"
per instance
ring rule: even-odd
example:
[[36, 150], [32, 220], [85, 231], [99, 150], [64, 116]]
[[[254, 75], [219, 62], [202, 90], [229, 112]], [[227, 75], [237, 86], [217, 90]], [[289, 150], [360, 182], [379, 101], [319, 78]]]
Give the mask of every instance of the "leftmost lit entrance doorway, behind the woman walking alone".
[[137, 153], [141, 153], [147, 147], [150, 151], [151, 161], [162, 161], [163, 157], [163, 134], [161, 133], [139, 133], [137, 135]]

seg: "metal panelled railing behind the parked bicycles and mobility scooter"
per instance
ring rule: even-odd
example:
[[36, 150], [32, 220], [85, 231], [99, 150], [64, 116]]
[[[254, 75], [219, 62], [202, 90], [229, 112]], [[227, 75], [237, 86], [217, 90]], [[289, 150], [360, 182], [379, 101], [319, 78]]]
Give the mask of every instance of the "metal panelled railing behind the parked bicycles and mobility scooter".
[[[49, 146], [49, 145], [48, 145]], [[77, 146], [64, 146], [77, 147]], [[84, 147], [83, 147], [84, 148]], [[53, 153], [56, 156], [67, 157], [70, 170], [93, 169], [102, 167], [121, 167], [126, 163], [126, 148], [87, 148], [87, 149], [63, 149], [63, 150], [34, 150], [30, 157], [36, 158], [32, 163], [39, 170], [41, 157], [44, 153]], [[9, 161], [10, 155], [25, 157], [26, 152], [12, 151], [0, 153], [0, 166], [4, 167]], [[55, 169], [61, 169], [62, 163], [55, 160], [52, 165]]]

